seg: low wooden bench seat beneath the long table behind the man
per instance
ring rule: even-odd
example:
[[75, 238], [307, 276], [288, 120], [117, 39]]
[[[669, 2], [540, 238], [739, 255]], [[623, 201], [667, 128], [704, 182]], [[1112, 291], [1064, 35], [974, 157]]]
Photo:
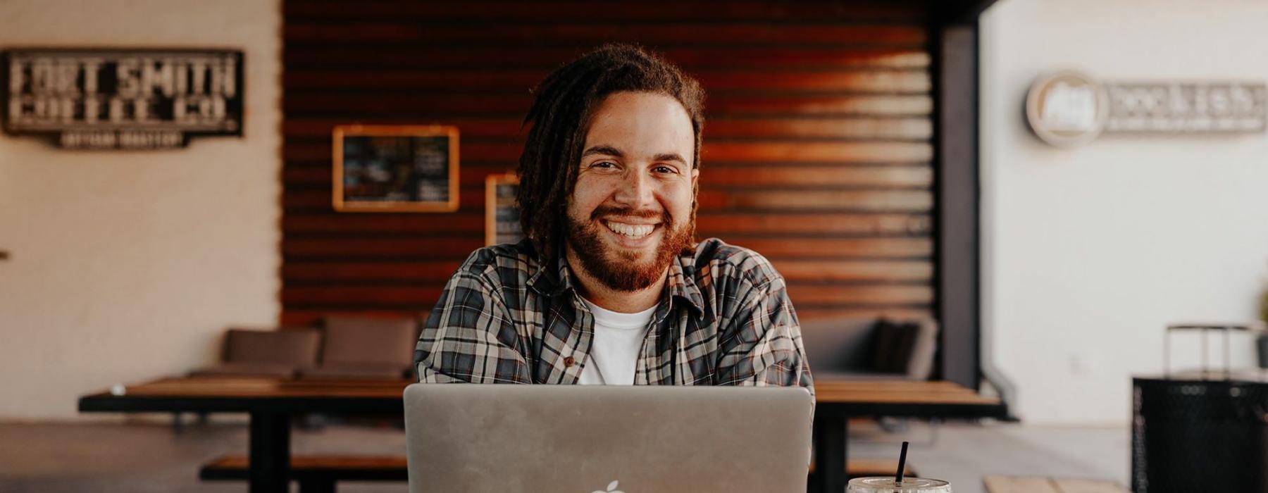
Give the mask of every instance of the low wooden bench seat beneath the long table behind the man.
[[[246, 480], [247, 458], [224, 455], [203, 465], [198, 478], [203, 480]], [[846, 474], [851, 478], [893, 475], [898, 461], [890, 459], [851, 459]], [[814, 474], [814, 464], [810, 464]], [[915, 468], [908, 463], [904, 475], [915, 477]], [[290, 479], [299, 482], [301, 493], [333, 493], [335, 483], [345, 482], [404, 482], [410, 479], [403, 456], [360, 455], [292, 455]]]

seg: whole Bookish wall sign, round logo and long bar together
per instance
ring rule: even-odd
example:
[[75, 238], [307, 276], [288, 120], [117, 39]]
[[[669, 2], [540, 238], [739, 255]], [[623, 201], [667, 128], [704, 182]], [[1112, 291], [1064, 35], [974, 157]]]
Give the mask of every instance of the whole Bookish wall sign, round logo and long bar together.
[[1265, 98], [1264, 82], [1101, 82], [1063, 71], [1035, 81], [1026, 119], [1038, 138], [1063, 147], [1103, 132], [1249, 133], [1268, 127]]

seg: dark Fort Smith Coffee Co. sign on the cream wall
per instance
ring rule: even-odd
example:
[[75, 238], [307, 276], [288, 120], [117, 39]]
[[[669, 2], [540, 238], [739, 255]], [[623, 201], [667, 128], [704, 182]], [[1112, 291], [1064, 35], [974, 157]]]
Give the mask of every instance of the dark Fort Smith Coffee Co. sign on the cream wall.
[[0, 52], [4, 131], [66, 148], [184, 147], [242, 136], [242, 52], [75, 49]]

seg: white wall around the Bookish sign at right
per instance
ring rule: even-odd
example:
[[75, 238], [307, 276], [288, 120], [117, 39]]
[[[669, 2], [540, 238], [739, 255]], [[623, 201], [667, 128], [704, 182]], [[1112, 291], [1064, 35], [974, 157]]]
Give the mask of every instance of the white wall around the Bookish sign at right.
[[[1268, 270], [1268, 136], [1102, 136], [1061, 150], [1025, 124], [1041, 72], [1268, 81], [1268, 3], [1002, 0], [981, 18], [988, 357], [1036, 423], [1126, 423], [1174, 321], [1254, 319]], [[1179, 364], [1197, 338], [1178, 337]], [[1253, 365], [1248, 337], [1235, 364]], [[1217, 355], [1213, 350], [1212, 356]]]

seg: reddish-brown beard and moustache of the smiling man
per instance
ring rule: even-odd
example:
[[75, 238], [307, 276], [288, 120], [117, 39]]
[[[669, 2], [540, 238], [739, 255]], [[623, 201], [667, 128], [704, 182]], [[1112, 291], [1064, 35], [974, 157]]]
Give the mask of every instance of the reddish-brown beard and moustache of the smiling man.
[[[621, 250], [609, 250], [604, 245], [600, 228], [606, 228], [598, 223], [598, 218], [607, 215], [654, 218], [661, 217], [661, 243], [656, 246], [652, 259], [638, 261], [639, 253]], [[566, 240], [572, 247], [581, 267], [605, 286], [616, 291], [637, 291], [647, 289], [662, 276], [670, 267], [670, 262], [678, 256], [691, 242], [691, 224], [675, 224], [668, 212], [656, 213], [653, 210], [634, 210], [630, 208], [618, 208], [600, 205], [590, 214], [590, 222], [578, 222], [568, 217]]]

